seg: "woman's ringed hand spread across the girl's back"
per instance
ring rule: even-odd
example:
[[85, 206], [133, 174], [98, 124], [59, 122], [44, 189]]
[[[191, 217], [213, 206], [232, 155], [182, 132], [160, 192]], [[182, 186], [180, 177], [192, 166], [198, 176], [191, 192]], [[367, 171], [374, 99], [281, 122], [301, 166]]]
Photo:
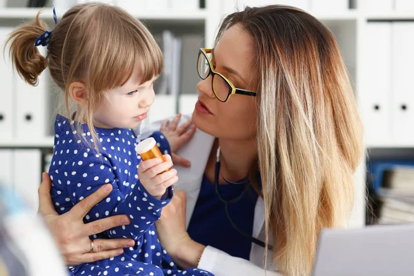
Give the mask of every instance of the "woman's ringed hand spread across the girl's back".
[[68, 266], [115, 257], [124, 252], [122, 248], [135, 244], [132, 239], [94, 239], [93, 252], [90, 252], [91, 241], [89, 235], [101, 233], [115, 226], [130, 224], [130, 220], [126, 215], [107, 217], [88, 224], [83, 223], [83, 217], [88, 211], [110, 194], [112, 185], [103, 185], [95, 193], [73, 206], [67, 213], [58, 215], [50, 197], [52, 186], [50, 177], [46, 172], [43, 172], [42, 179], [43, 181], [39, 187], [38, 213], [46, 221]]

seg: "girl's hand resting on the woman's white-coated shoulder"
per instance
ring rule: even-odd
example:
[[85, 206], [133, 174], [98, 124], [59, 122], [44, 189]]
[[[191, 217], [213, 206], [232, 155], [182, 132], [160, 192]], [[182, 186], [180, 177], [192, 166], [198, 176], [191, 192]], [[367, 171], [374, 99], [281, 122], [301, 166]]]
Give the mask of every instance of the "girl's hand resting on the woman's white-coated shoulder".
[[[195, 126], [191, 126], [191, 120], [178, 126], [181, 113], [178, 113], [172, 121], [165, 120], [161, 124], [160, 131], [166, 136], [170, 144], [172, 163], [184, 167], [190, 166], [190, 161], [176, 154], [177, 150], [190, 141], [195, 133]], [[178, 126], [178, 127], [177, 127]]]

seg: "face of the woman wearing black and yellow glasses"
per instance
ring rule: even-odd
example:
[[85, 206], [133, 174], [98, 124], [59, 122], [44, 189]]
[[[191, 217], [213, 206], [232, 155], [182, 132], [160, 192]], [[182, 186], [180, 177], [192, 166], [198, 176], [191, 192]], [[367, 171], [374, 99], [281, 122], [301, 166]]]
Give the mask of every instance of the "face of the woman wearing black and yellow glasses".
[[[253, 68], [252, 45], [250, 34], [241, 25], [235, 24], [224, 32], [214, 48], [212, 63], [215, 72], [224, 75], [236, 88], [255, 91], [257, 77]], [[234, 94], [222, 103], [215, 98], [211, 81], [210, 75], [197, 84], [199, 102], [193, 112], [193, 124], [217, 138], [254, 139], [256, 97]]]

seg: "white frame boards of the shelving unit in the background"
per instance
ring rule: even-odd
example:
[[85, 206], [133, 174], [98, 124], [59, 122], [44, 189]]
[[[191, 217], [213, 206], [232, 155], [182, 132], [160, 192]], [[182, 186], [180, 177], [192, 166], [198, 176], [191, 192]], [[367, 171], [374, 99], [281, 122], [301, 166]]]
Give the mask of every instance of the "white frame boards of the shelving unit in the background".
[[[233, 0], [231, 0], [233, 1]], [[334, 0], [332, 0], [334, 1]], [[322, 10], [310, 10], [311, 14], [324, 22], [328, 28], [332, 30], [337, 37], [337, 41], [342, 51], [342, 55], [348, 72], [353, 80], [355, 88], [355, 95], [359, 101], [359, 106], [362, 108], [364, 102], [361, 97], [366, 93], [367, 83], [364, 83], [367, 79], [367, 74], [370, 72], [370, 64], [364, 61], [366, 55], [365, 44], [367, 43], [366, 32], [369, 21], [414, 21], [414, 10], [404, 12], [373, 12], [367, 10], [366, 1], [371, 0], [356, 0], [351, 1], [351, 7], [348, 10], [338, 11], [322, 11]], [[274, 1], [277, 3], [277, 1]], [[285, 1], [286, 2], [286, 1]], [[243, 6], [244, 1], [239, 0], [239, 6]], [[175, 25], [177, 28], [193, 28], [193, 26], [203, 26], [204, 29], [204, 45], [212, 46], [215, 33], [221, 19], [225, 14], [233, 12], [235, 1], [230, 3], [230, 0], [206, 0], [206, 8], [199, 9], [194, 12], [177, 11], [177, 10], [155, 10], [133, 13], [138, 19], [147, 21], [150, 25], [155, 24], [158, 27]], [[37, 14], [37, 9], [32, 8], [0, 8], [0, 26], [7, 26], [7, 24], [15, 24], [18, 21], [33, 19]], [[63, 11], [58, 10], [58, 16], [63, 14]], [[46, 8], [42, 13], [42, 18], [52, 21], [52, 10]], [[52, 26], [52, 25], [50, 25]], [[413, 34], [407, 34], [413, 35]], [[184, 53], [185, 55], [185, 53]], [[414, 77], [414, 70], [413, 70]], [[191, 97], [194, 95], [189, 95]], [[166, 97], [166, 96], [163, 96]], [[167, 98], [168, 99], [168, 98]], [[182, 102], [188, 103], [186, 99]], [[414, 122], [414, 120], [413, 120]], [[1, 139], [0, 134], [0, 148], [45, 148], [51, 147], [53, 144], [53, 137], [44, 137], [34, 140], [21, 140], [21, 139]], [[396, 141], [368, 141], [367, 148], [414, 148], [413, 141], [404, 143], [398, 143]], [[356, 203], [353, 213], [353, 221], [351, 226], [362, 227], [365, 225], [365, 198], [366, 198], [366, 170], [364, 167], [365, 161], [359, 166], [355, 173], [355, 187], [356, 187]]]

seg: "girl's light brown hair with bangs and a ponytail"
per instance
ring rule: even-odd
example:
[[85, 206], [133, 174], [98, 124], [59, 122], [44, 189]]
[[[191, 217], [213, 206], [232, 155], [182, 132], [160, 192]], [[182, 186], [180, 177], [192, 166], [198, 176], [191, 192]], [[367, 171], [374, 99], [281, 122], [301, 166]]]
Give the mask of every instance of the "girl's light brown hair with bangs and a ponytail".
[[[87, 108], [77, 117], [84, 119], [97, 148], [93, 113], [105, 92], [122, 86], [135, 69], [144, 83], [161, 73], [162, 52], [147, 28], [128, 12], [104, 3], [86, 3], [68, 10], [59, 20], [49, 41], [48, 55], [43, 57], [34, 41], [48, 28], [39, 19], [28, 22], [10, 34], [10, 57], [19, 75], [33, 86], [49, 67], [53, 81], [65, 92], [68, 117], [70, 83], [85, 84]], [[77, 124], [78, 134], [82, 133]], [[86, 140], [87, 141], [87, 140]]]

